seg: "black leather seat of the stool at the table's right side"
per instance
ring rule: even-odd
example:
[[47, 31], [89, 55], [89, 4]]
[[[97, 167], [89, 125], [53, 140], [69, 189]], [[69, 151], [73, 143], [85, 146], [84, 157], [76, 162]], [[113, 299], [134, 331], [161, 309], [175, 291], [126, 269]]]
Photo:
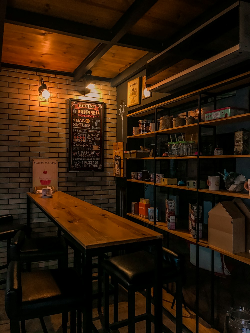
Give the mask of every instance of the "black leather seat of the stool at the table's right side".
[[[143, 286], [145, 283], [153, 284], [154, 255], [146, 251], [138, 251], [107, 259], [103, 267], [113, 276], [115, 275], [127, 287], [132, 285]], [[175, 279], [177, 267], [170, 262], [163, 261], [163, 281]]]

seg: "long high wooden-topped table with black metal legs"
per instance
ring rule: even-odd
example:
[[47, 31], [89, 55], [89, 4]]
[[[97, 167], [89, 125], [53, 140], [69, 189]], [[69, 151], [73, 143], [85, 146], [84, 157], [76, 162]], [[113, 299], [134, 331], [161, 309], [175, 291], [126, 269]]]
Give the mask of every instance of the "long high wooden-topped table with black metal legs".
[[34, 203], [64, 236], [83, 253], [85, 304], [83, 332], [92, 332], [92, 257], [112, 250], [155, 248], [155, 332], [162, 332], [162, 238], [163, 235], [64, 192], [51, 198], [27, 193], [27, 225]]

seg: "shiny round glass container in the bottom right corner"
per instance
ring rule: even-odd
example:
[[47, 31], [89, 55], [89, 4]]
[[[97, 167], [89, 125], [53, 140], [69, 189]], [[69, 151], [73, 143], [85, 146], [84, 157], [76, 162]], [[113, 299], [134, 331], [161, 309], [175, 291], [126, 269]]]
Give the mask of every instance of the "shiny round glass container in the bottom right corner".
[[250, 309], [231, 307], [225, 316], [224, 333], [248, 333], [250, 330]]

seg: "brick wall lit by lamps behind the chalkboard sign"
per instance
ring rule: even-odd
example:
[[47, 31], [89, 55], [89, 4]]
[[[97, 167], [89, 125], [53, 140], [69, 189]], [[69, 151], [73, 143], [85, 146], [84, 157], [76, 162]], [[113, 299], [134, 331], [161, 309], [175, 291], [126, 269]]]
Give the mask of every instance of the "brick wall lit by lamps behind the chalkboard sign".
[[[41, 102], [40, 78], [53, 98]], [[71, 77], [3, 68], [0, 73], [0, 214], [26, 223], [26, 192], [32, 191], [32, 159], [58, 159], [58, 190], [115, 212], [113, 143], [116, 142], [116, 88], [97, 82], [85, 93], [83, 82]], [[105, 103], [104, 171], [68, 172], [69, 98]], [[32, 236], [55, 235], [57, 228], [35, 206]], [[6, 262], [6, 242], [0, 242], [0, 265]], [[69, 251], [69, 262], [73, 254]], [[56, 262], [34, 263], [47, 268]], [[1, 278], [0, 274], [0, 278]]]

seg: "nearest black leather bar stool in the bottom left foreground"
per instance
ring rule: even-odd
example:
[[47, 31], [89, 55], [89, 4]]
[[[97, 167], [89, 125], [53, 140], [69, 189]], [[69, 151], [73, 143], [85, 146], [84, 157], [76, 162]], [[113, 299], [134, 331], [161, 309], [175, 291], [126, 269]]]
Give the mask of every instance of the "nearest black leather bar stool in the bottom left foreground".
[[[10, 319], [10, 333], [25, 332], [25, 320], [39, 318], [43, 332], [47, 332], [42, 317], [62, 313], [63, 333], [67, 333], [70, 311], [70, 332], [80, 333], [83, 282], [73, 268], [48, 269], [22, 273], [20, 261], [11, 261], [7, 270], [5, 311]], [[73, 319], [74, 318], [74, 319]]]

